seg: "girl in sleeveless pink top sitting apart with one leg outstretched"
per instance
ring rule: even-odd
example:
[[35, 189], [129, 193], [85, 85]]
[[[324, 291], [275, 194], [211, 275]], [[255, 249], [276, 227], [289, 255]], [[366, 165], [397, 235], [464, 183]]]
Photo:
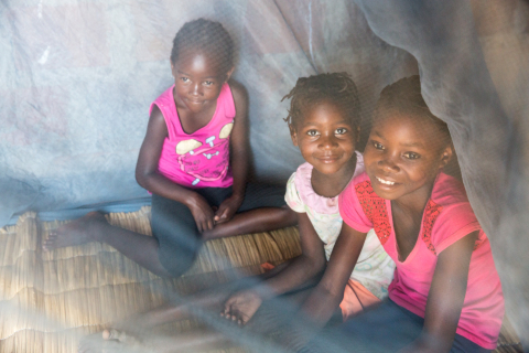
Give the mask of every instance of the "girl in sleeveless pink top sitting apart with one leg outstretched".
[[154, 236], [89, 213], [52, 233], [44, 249], [102, 242], [159, 276], [177, 277], [204, 239], [294, 224], [280, 189], [247, 189], [248, 97], [229, 79], [234, 44], [223, 25], [185, 23], [173, 41], [171, 71], [174, 85], [151, 105], [136, 170], [152, 192]]

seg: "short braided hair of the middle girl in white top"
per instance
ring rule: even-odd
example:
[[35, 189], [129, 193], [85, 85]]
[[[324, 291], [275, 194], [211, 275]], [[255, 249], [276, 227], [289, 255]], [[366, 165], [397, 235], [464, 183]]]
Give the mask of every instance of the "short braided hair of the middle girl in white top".
[[353, 127], [360, 125], [360, 101], [356, 85], [347, 73], [320, 74], [300, 77], [294, 88], [281, 99], [290, 100], [289, 115], [283, 120], [295, 125], [303, 118], [303, 113], [322, 101], [330, 101], [339, 107], [350, 119]]

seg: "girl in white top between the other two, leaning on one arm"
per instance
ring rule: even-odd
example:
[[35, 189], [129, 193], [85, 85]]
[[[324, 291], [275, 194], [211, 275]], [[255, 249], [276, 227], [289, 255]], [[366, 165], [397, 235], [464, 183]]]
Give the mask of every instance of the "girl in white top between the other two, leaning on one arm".
[[[240, 323], [248, 322], [263, 299], [305, 285], [327, 261], [327, 267], [333, 266], [332, 253], [342, 228], [338, 194], [353, 176], [364, 172], [363, 157], [355, 152], [359, 101], [347, 74], [300, 78], [284, 98], [291, 98], [285, 121], [292, 142], [306, 161], [290, 178], [285, 194], [288, 205], [298, 214], [303, 253], [262, 286], [236, 293], [226, 302], [224, 314]], [[360, 249], [357, 265], [339, 289], [344, 320], [385, 298], [393, 276], [395, 264], [375, 232], [368, 233]]]

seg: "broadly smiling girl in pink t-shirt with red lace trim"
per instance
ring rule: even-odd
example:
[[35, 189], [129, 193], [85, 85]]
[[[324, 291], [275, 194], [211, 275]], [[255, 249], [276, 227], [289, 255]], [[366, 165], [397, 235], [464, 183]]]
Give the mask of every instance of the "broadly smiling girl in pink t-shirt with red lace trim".
[[[344, 226], [336, 247], [349, 250], [333, 256], [353, 268], [374, 227], [397, 269], [389, 300], [344, 323], [348, 347], [366, 352], [496, 347], [504, 315], [501, 286], [490, 244], [463, 186], [441, 171], [452, 153], [447, 126], [428, 109], [419, 76], [382, 90], [364, 152], [366, 173], [339, 197]], [[321, 286], [333, 293], [346, 280], [339, 269], [328, 268]], [[322, 310], [317, 304], [311, 309]]]

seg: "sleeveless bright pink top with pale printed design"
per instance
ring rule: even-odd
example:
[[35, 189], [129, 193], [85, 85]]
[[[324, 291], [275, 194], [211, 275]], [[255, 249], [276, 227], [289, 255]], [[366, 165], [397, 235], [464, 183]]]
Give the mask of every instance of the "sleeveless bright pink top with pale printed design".
[[229, 168], [229, 136], [234, 127], [235, 103], [225, 83], [209, 122], [188, 135], [180, 121], [173, 96], [174, 85], [151, 104], [158, 106], [168, 125], [158, 169], [162, 175], [187, 188], [227, 188], [234, 183]]

